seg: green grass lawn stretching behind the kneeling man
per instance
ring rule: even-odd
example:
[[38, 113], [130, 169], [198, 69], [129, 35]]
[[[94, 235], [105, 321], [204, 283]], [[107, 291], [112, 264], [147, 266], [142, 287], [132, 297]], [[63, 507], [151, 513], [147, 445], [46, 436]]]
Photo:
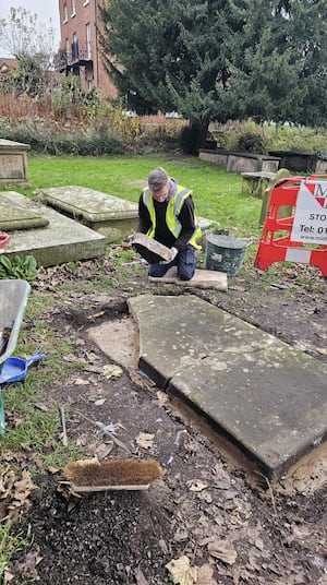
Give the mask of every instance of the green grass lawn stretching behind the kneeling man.
[[142, 181], [164, 166], [181, 184], [193, 189], [196, 214], [242, 237], [258, 236], [261, 201], [243, 195], [242, 177], [196, 157], [28, 156], [31, 189], [80, 184], [129, 201], [138, 201]]

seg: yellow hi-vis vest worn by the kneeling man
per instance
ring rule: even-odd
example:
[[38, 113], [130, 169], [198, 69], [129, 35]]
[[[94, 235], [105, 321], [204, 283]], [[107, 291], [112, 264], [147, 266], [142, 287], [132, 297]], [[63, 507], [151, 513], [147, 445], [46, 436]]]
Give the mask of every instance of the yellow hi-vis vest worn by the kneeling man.
[[[171, 231], [171, 234], [175, 238], [178, 238], [180, 232], [182, 231], [182, 224], [180, 223], [178, 216], [181, 212], [181, 208], [183, 206], [185, 199], [190, 194], [192, 194], [192, 191], [190, 189], [185, 189], [185, 187], [178, 186], [178, 190], [175, 194], [172, 195], [172, 198], [170, 198], [170, 200], [168, 201], [167, 211], [166, 211], [166, 224], [167, 224], [168, 229]], [[148, 188], [146, 188], [143, 191], [143, 202], [146, 208], [148, 210], [150, 220], [152, 220], [152, 227], [149, 228], [147, 236], [149, 238], [154, 238], [155, 232], [156, 232], [156, 212], [155, 212], [155, 205], [154, 205], [154, 198], [152, 196]], [[197, 225], [196, 218], [194, 219], [195, 219], [195, 228], [187, 243], [191, 243], [193, 248], [201, 250], [201, 246], [196, 243], [196, 240], [201, 238], [202, 231]]]

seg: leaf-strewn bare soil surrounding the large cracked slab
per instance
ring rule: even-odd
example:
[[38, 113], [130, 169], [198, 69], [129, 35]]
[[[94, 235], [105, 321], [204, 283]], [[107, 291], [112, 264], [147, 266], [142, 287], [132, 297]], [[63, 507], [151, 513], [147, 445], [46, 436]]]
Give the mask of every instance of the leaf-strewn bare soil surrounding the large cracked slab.
[[[268, 278], [244, 263], [226, 294], [158, 287], [137, 258], [121, 267], [111, 258], [100, 270], [107, 278], [101, 290], [96, 261], [39, 275], [35, 295], [56, 299], [44, 315], [55, 344], [68, 339], [65, 360], [85, 366], [44, 387], [38, 407], [64, 406], [69, 444], [84, 457], [155, 458], [164, 476], [148, 490], [78, 498], [61, 483], [60, 469], [40, 464], [33, 478], [37, 489], [16, 527], [24, 533], [29, 526], [33, 542], [16, 556], [11, 583], [326, 584], [324, 445], [278, 482], [250, 471], [201, 420], [141, 375], [137, 332], [126, 308], [132, 295], [195, 294], [326, 361], [326, 280], [319, 271], [280, 266]], [[32, 318], [25, 326], [37, 342]], [[109, 434], [96, 422], [110, 426]], [[61, 427], [56, 438], [62, 439]], [[28, 466], [28, 453], [22, 461]], [[171, 562], [179, 576], [166, 566]]]

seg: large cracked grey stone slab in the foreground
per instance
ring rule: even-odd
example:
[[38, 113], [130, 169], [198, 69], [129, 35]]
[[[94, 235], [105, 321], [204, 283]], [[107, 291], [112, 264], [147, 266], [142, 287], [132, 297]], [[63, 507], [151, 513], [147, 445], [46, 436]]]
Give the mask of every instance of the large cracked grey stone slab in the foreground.
[[276, 478], [326, 440], [327, 366], [193, 296], [129, 300], [140, 368]]

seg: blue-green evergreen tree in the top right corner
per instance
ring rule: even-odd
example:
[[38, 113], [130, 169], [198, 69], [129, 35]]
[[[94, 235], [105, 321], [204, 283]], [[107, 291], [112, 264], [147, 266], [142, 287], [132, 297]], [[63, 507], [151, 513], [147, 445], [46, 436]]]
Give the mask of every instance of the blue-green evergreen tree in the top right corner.
[[[326, 0], [229, 0], [232, 118], [327, 122]], [[243, 23], [243, 26], [242, 26]]]

